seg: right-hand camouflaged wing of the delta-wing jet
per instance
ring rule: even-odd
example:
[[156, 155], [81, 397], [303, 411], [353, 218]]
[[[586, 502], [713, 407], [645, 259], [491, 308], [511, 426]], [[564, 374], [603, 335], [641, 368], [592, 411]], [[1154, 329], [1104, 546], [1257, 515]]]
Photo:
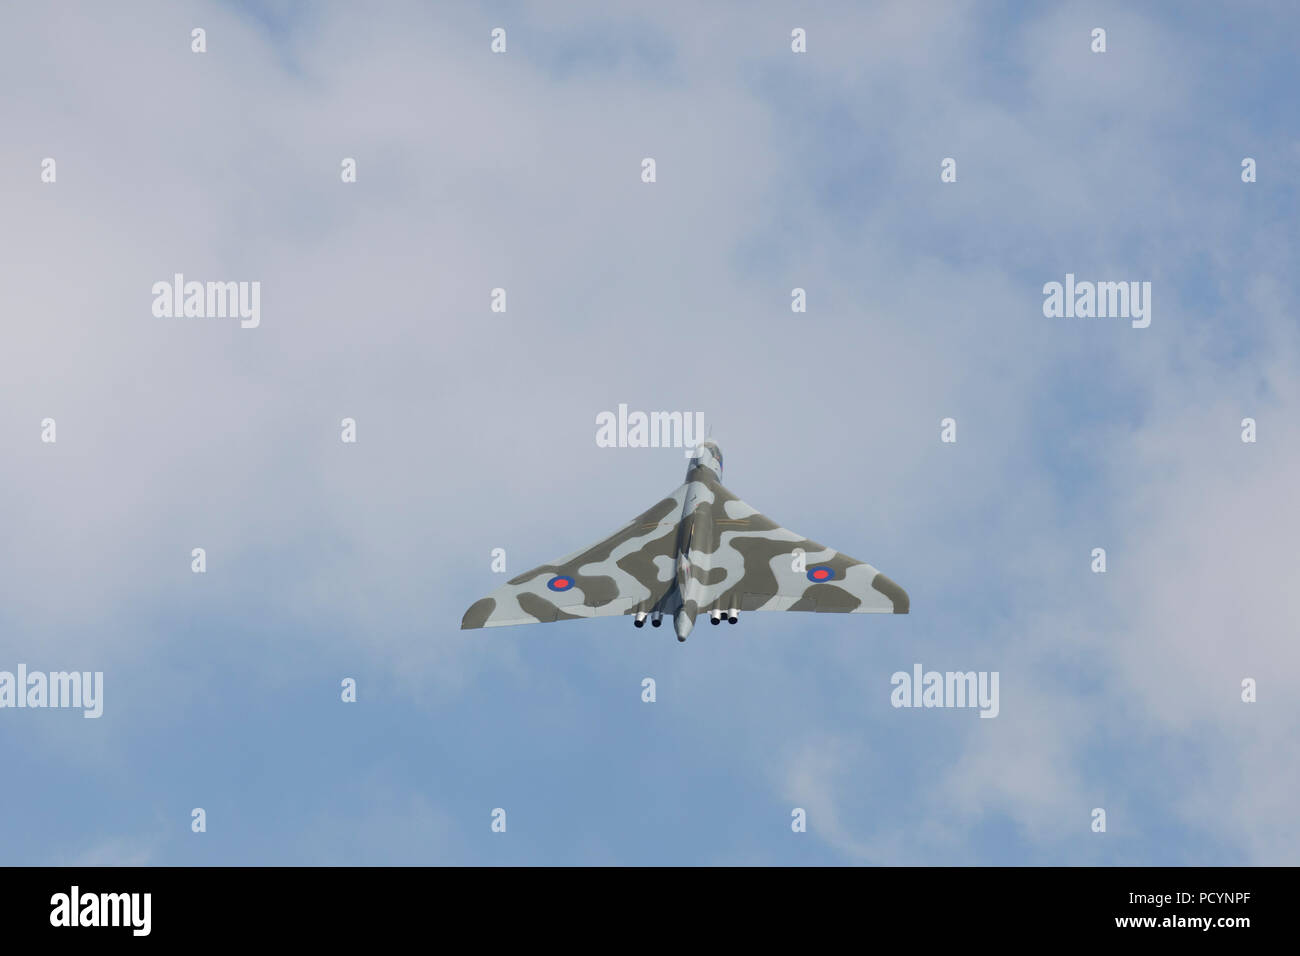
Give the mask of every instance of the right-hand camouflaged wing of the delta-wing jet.
[[783, 528], [722, 485], [712, 490], [716, 546], [712, 554], [693, 555], [693, 561], [707, 561], [707, 593], [715, 606], [746, 611], [907, 613], [907, 592], [871, 564]]

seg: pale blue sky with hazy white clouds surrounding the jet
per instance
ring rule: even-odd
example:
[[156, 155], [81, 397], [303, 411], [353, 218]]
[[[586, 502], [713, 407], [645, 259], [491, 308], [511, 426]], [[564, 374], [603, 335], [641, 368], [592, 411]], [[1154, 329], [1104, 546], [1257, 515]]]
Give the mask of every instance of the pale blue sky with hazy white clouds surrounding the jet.
[[[104, 696], [0, 709], [0, 864], [1300, 862], [1297, 26], [5, 5], [0, 671]], [[680, 484], [620, 403], [910, 614], [460, 631]]]

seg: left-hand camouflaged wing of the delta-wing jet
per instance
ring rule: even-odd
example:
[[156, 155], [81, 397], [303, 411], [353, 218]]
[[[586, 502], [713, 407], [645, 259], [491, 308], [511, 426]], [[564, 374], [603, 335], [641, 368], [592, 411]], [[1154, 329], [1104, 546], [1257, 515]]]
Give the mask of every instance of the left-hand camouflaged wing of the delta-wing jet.
[[476, 601], [462, 630], [663, 610], [676, 594], [673, 553], [682, 485], [590, 548], [534, 567]]

